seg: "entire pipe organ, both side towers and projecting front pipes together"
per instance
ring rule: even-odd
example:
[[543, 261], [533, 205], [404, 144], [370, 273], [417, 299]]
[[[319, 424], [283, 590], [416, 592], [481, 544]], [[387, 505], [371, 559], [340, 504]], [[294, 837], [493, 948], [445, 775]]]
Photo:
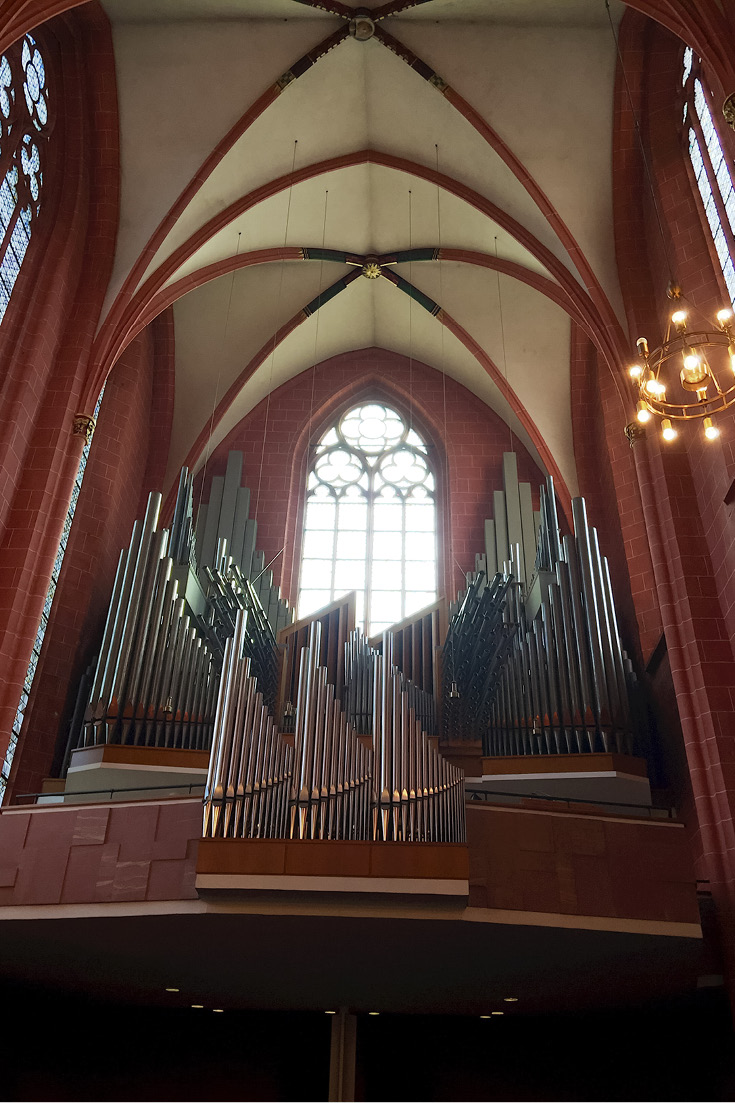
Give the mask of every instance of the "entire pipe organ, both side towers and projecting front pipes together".
[[552, 480], [534, 512], [508, 453], [465, 589], [368, 639], [354, 595], [294, 620], [242, 478], [233, 452], [196, 524], [185, 469], [169, 527], [150, 495], [54, 799], [201, 794], [207, 845], [461, 845], [467, 799], [650, 804], [636, 677], [583, 499], [562, 533]]

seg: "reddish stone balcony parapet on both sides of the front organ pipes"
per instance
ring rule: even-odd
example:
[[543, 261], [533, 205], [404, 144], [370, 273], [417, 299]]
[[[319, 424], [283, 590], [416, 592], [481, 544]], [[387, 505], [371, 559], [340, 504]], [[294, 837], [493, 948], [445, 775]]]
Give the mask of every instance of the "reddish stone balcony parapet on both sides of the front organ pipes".
[[[490, 805], [467, 815], [470, 907], [699, 922], [679, 826]], [[4, 810], [0, 907], [195, 899], [201, 829], [200, 801]]]

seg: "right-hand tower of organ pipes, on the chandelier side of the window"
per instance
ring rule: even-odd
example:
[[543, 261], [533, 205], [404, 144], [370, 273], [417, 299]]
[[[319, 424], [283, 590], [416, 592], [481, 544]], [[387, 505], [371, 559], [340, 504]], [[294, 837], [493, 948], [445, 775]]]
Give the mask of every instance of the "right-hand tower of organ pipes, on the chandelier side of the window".
[[448, 738], [481, 739], [489, 756], [632, 753], [636, 677], [582, 497], [573, 520], [560, 538], [548, 479], [532, 585], [483, 570], [468, 579], [443, 651]]

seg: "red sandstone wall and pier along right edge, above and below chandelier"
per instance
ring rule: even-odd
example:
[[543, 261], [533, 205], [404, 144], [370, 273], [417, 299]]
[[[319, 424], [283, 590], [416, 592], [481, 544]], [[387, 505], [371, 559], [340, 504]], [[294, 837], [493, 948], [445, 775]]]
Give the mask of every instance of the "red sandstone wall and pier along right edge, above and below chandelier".
[[[616, 246], [621, 290], [631, 336], [641, 332], [656, 344], [670, 304], [670, 276], [690, 303], [712, 318], [727, 301], [721, 269], [690, 178], [682, 130], [681, 60], [683, 43], [636, 13], [621, 24], [622, 60], [656, 194], [649, 197], [628, 95], [618, 81], [616, 163]], [[706, 83], [706, 81], [705, 81]], [[713, 115], [718, 117], [716, 101]], [[725, 150], [735, 136], [720, 128]], [[626, 141], [627, 139], [627, 147]], [[624, 175], [624, 170], [627, 176]], [[633, 202], [641, 195], [641, 202]], [[625, 204], [628, 201], [628, 213]], [[662, 228], [657, 212], [660, 212]], [[636, 270], [647, 278], [633, 278]], [[635, 329], [633, 329], [635, 325]], [[697, 874], [709, 879], [723, 936], [731, 995], [735, 977], [735, 661], [733, 601], [735, 559], [733, 518], [724, 502], [735, 478], [732, 414], [718, 419], [722, 440], [705, 442], [701, 428], [684, 426], [679, 440], [662, 445], [656, 429], [633, 450], [652, 557], [651, 582], [659, 596], [677, 706], [686, 749], [697, 837]]]

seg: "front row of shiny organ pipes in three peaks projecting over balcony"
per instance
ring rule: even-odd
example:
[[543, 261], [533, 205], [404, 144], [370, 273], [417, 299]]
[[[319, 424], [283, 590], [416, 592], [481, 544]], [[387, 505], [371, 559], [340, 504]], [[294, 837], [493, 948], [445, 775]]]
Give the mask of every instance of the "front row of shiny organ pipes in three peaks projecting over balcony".
[[[311, 624], [299, 655], [295, 732], [278, 735], [249, 661], [243, 656], [239, 611], [227, 643], [206, 785], [204, 833], [225, 837], [290, 837], [459, 842], [464, 839], [461, 771], [449, 765], [422, 730], [412, 687], [359, 632], [345, 668], [365, 672], [372, 732], [358, 735], [319, 665], [321, 624]], [[360, 663], [355, 664], [355, 656]], [[345, 698], [353, 699], [350, 681]], [[292, 747], [290, 740], [292, 738]]]

